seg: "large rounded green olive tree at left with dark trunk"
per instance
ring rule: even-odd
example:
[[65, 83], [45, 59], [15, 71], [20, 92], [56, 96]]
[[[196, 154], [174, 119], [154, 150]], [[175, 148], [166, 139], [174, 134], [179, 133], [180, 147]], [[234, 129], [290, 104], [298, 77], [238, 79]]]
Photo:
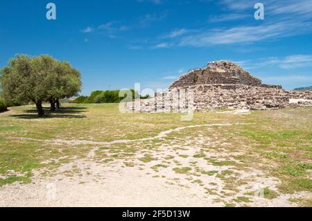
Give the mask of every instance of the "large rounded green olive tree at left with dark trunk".
[[[49, 55], [17, 55], [0, 71], [3, 98], [21, 103], [35, 103], [39, 117], [42, 103], [64, 98], [80, 91], [80, 73], [67, 62]], [[75, 88], [73, 88], [75, 86]], [[56, 102], [56, 101], [55, 101]]]

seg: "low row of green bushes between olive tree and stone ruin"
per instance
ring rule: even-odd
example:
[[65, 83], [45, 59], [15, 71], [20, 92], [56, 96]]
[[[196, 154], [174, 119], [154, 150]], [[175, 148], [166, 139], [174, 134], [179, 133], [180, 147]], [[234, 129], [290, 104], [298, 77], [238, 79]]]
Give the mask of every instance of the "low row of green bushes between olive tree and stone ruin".
[[[126, 96], [119, 97], [120, 90], [114, 91], [93, 91], [90, 96], [79, 96], [72, 103], [120, 103]], [[131, 90], [132, 99], [135, 99], [135, 95], [138, 95], [135, 90]], [[142, 99], [149, 96], [141, 97]]]

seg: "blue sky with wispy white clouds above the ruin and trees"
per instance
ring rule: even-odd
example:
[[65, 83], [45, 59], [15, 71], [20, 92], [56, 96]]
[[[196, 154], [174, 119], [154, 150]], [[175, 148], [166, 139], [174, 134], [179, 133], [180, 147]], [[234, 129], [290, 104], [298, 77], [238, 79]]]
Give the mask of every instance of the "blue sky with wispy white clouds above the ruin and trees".
[[[264, 19], [256, 20], [255, 3]], [[46, 19], [55, 3], [56, 19]], [[189, 69], [237, 62], [263, 83], [312, 85], [311, 0], [10, 0], [0, 67], [17, 54], [67, 60], [94, 90], [166, 89]]]

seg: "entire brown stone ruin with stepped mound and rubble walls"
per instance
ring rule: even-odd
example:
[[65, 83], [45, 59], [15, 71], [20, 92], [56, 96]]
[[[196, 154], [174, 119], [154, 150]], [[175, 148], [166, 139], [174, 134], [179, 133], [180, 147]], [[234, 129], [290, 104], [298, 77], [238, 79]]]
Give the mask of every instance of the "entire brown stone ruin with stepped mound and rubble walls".
[[186, 112], [190, 107], [211, 109], [283, 109], [312, 106], [312, 91], [286, 91], [279, 85], [263, 85], [234, 62], [211, 62], [193, 69], [155, 98], [128, 106], [137, 112]]

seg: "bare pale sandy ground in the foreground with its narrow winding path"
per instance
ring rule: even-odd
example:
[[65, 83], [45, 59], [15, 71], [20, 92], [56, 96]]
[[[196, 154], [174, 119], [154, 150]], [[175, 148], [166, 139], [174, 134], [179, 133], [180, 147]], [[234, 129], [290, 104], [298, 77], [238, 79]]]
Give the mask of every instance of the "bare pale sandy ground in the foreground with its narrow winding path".
[[[211, 126], [179, 127], [161, 132], [151, 138], [139, 139], [137, 142], [162, 139], [171, 132], [193, 127], [212, 130]], [[201, 150], [204, 143], [211, 147], [216, 144], [222, 145], [225, 150], [227, 145], [230, 145], [201, 134], [198, 134], [198, 137], [185, 137], [182, 143], [171, 141], [157, 149], [143, 149], [134, 157], [116, 159], [111, 163], [102, 163], [98, 160], [99, 148], [130, 141], [87, 143], [87, 141], [53, 140], [51, 142], [58, 142], [60, 145], [84, 143], [95, 146], [84, 159], [75, 159], [71, 163], [62, 165], [57, 173], [49, 177], [43, 177], [42, 171], [37, 170], [33, 171], [31, 184], [15, 183], [1, 187], [0, 206], [225, 206], [227, 202], [232, 202], [236, 197], [243, 197], [250, 191], [259, 191], [268, 186], [272, 190], [277, 190], [276, 186], [279, 184], [278, 179], [267, 177], [263, 171], [255, 168], [236, 170], [232, 166], [214, 166], [204, 159], [191, 157]], [[146, 154], [155, 160], [146, 163], [139, 161], [139, 158]], [[233, 154], [243, 153], [216, 152], [211, 149], [206, 154], [207, 157], [232, 159]], [[168, 156], [175, 157], [166, 159]], [[132, 163], [132, 166], [125, 166], [125, 162]], [[153, 168], [161, 164], [166, 167]], [[245, 180], [246, 184], [239, 186], [239, 193], [234, 193], [224, 189], [223, 179], [212, 175], [175, 173], [173, 169], [177, 167], [218, 171], [219, 174], [231, 169], [235, 172], [236, 178]], [[250, 202], [236, 202], [235, 206], [297, 206], [288, 199], [301, 196], [312, 197], [312, 194], [279, 195], [274, 200], [268, 200], [261, 195], [251, 195]]]

